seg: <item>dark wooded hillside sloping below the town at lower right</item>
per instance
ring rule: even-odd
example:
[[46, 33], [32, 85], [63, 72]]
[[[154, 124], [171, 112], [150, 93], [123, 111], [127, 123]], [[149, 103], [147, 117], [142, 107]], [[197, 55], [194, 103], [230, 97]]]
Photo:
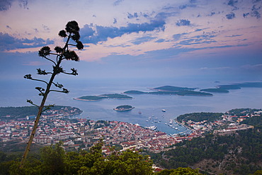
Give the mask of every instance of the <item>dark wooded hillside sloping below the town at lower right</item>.
[[193, 138], [176, 144], [176, 149], [151, 154], [152, 159], [166, 169], [190, 166], [211, 174], [252, 174], [262, 169], [261, 115], [242, 123], [255, 124], [255, 128]]

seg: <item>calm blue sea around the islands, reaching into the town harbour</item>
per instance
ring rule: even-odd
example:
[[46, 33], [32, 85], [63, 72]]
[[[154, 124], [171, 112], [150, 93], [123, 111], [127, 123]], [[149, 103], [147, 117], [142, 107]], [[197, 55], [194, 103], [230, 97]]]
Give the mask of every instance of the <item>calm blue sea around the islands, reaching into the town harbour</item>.
[[[173, 135], [186, 133], [188, 130], [181, 125], [172, 128], [173, 119], [178, 115], [198, 112], [225, 113], [234, 108], [262, 108], [262, 88], [241, 88], [229, 90], [228, 94], [213, 96], [175, 96], [153, 94], [128, 94], [130, 100], [103, 99], [101, 101], [77, 101], [73, 98], [101, 94], [121, 94], [124, 91], [152, 91], [159, 86], [182, 86], [189, 88], [215, 88], [221, 84], [241, 83], [237, 81], [189, 81], [174, 79], [69, 79], [61, 80], [69, 90], [69, 94], [50, 92], [46, 105], [72, 106], [80, 108], [83, 113], [78, 118], [91, 120], [118, 120], [143, 127], [156, 126], [157, 130]], [[30, 106], [26, 100], [30, 99], [40, 104], [41, 96], [35, 86], [39, 82], [21, 79], [16, 81], [2, 81], [0, 88], [0, 106]], [[135, 107], [132, 111], [114, 111], [120, 105]], [[163, 112], [165, 110], [166, 112]]]

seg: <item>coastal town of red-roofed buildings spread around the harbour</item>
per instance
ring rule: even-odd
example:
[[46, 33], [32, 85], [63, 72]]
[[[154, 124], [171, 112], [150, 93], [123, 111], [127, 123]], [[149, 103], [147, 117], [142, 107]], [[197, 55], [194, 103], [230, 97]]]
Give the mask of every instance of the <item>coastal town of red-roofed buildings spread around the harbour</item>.
[[[103, 139], [105, 154], [110, 154], [111, 146], [118, 147], [120, 150], [146, 149], [150, 152], [161, 152], [173, 149], [173, 145], [183, 140], [203, 137], [205, 132], [226, 135], [236, 130], [253, 128], [253, 126], [241, 124], [241, 121], [254, 115], [261, 115], [261, 113], [262, 111], [254, 111], [244, 116], [225, 113], [214, 122], [188, 120], [178, 123], [177, 120], [173, 120], [174, 123], [183, 125], [191, 132], [188, 135], [167, 135], [165, 132], [144, 128], [138, 124], [68, 118], [64, 117], [61, 111], [50, 110], [42, 115], [33, 144], [52, 145], [62, 141], [64, 149], [79, 150], [89, 149], [95, 142]], [[6, 144], [14, 140], [27, 142], [33, 123], [34, 118], [30, 116], [25, 120], [0, 121], [0, 142]]]

